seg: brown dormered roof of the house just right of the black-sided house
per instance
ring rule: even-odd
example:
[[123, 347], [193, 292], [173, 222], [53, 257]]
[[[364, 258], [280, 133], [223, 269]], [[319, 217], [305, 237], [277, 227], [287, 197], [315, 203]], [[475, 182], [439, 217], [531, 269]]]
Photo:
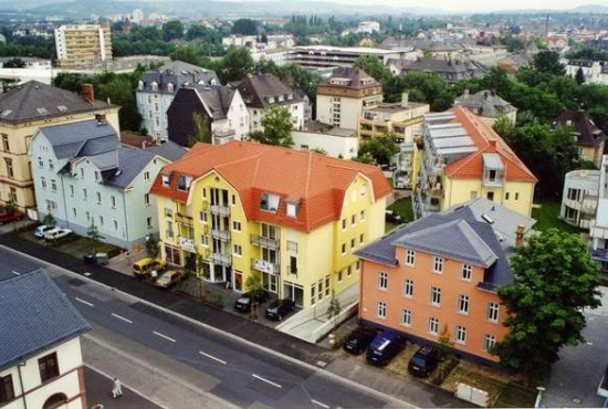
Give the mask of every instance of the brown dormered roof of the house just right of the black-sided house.
[[237, 86], [247, 106], [264, 108], [269, 105], [289, 105], [302, 98], [272, 74], [248, 74]]

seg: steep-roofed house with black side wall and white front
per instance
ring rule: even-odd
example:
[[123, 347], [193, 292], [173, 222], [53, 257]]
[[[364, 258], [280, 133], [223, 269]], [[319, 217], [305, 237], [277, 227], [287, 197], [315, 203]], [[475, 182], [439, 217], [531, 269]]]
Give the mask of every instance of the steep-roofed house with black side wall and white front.
[[197, 127], [203, 126], [197, 115], [205, 115], [213, 144], [242, 140], [249, 136], [248, 107], [238, 90], [228, 86], [184, 85], [167, 109], [169, 140], [190, 146]]

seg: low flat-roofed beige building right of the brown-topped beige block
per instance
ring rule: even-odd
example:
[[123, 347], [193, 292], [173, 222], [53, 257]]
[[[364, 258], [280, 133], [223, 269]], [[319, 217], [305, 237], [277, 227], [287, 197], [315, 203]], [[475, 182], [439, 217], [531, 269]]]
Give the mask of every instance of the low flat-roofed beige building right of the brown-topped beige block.
[[403, 93], [400, 103], [378, 103], [363, 109], [359, 119], [359, 139], [381, 137], [394, 132], [399, 143], [411, 143], [420, 134], [424, 114], [430, 112], [429, 104], [409, 102]]

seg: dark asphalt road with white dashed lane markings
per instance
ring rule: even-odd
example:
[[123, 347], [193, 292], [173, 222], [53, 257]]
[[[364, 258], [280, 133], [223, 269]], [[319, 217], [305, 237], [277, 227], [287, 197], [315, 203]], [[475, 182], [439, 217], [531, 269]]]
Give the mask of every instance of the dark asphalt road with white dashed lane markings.
[[[15, 272], [41, 265], [1, 248], [0, 260], [3, 266]], [[388, 400], [363, 388], [181, 321], [97, 283], [65, 273], [49, 273], [92, 323], [93, 336], [101, 331], [119, 335], [186, 365], [191, 369], [188, 374], [192, 384], [238, 407], [381, 408], [389, 405]], [[207, 381], [201, 384], [199, 378]]]

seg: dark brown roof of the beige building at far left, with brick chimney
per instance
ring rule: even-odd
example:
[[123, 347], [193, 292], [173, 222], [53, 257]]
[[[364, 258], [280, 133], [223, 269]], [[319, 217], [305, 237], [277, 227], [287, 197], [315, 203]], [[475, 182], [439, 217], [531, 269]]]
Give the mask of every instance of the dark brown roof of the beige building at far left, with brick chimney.
[[38, 81], [0, 94], [0, 123], [20, 124], [107, 108], [116, 106], [101, 101], [91, 103], [82, 95]]

